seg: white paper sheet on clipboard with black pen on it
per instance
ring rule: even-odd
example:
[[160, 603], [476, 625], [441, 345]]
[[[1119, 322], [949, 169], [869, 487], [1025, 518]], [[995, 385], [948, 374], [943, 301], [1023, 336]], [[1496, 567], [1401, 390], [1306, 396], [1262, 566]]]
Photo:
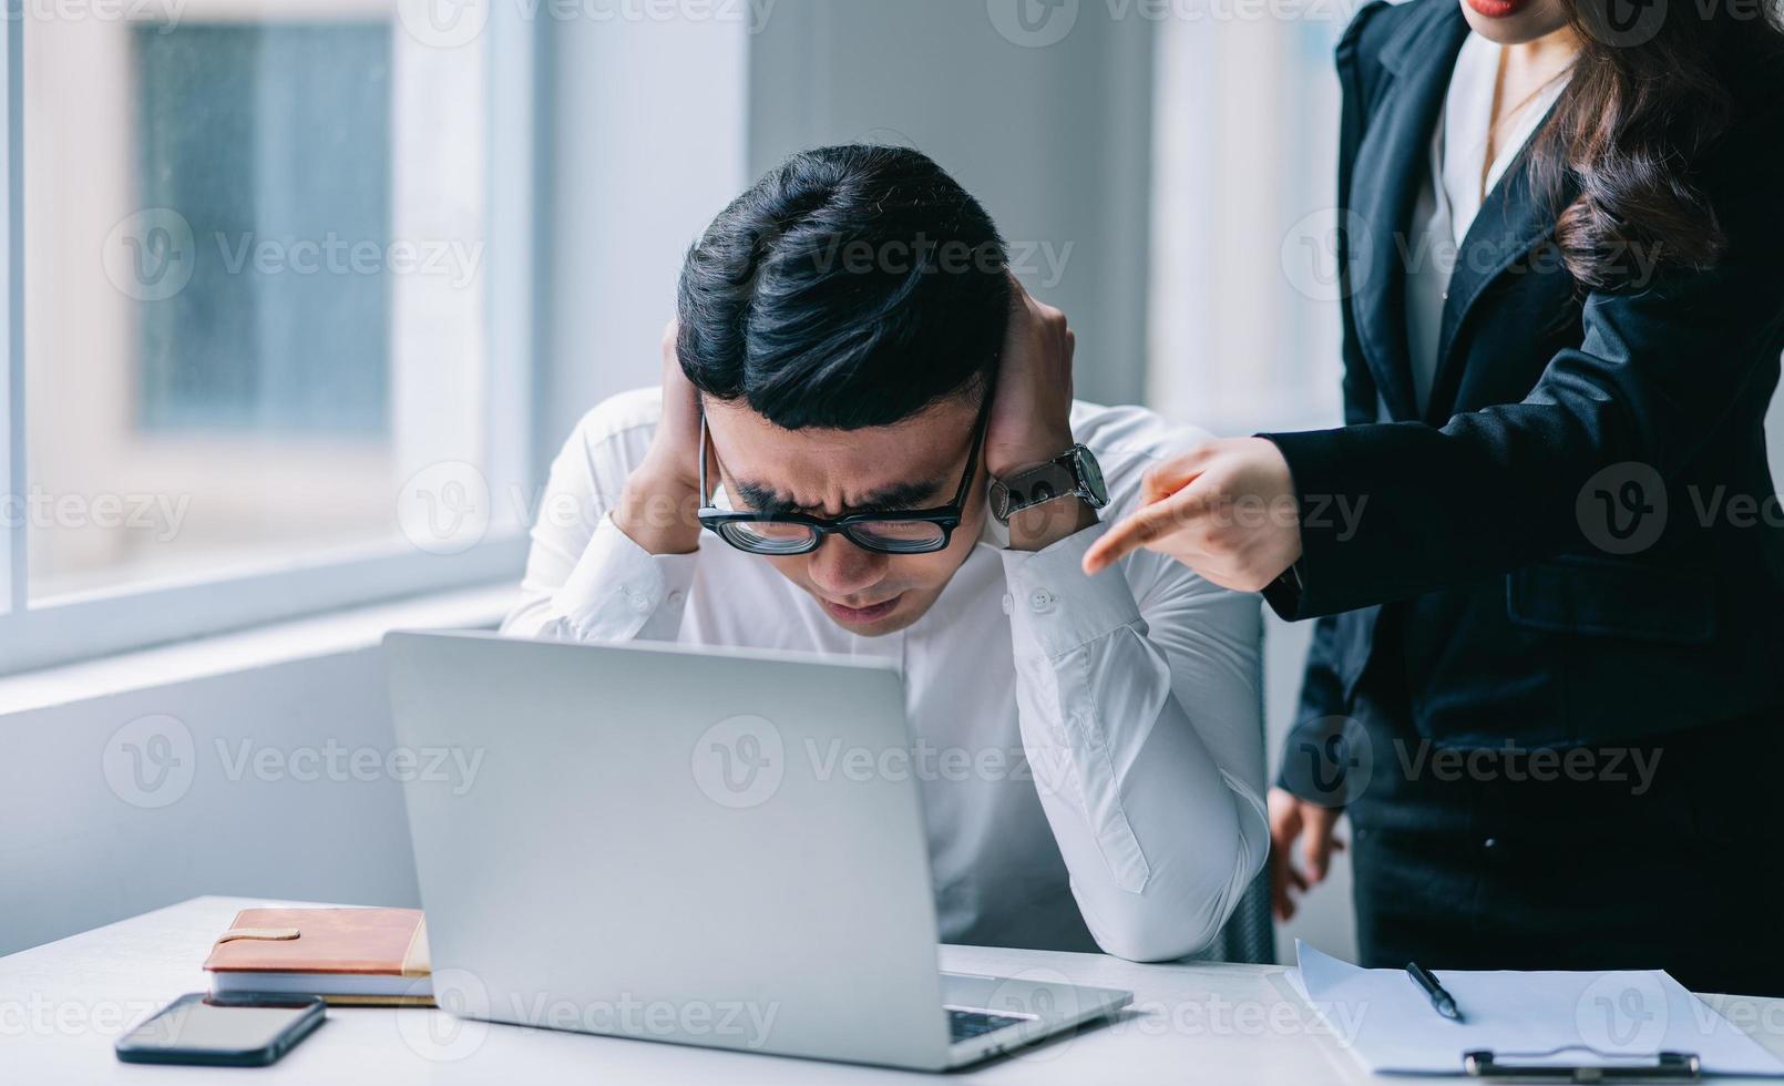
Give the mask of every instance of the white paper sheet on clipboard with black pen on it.
[[1359, 968], [1301, 940], [1295, 954], [1295, 986], [1374, 1072], [1459, 1075], [1463, 1052], [1488, 1049], [1515, 1063], [1593, 1066], [1695, 1052], [1704, 1074], [1784, 1075], [1784, 1063], [1663, 970], [1433, 970], [1463, 1013], [1450, 1022], [1402, 968]]

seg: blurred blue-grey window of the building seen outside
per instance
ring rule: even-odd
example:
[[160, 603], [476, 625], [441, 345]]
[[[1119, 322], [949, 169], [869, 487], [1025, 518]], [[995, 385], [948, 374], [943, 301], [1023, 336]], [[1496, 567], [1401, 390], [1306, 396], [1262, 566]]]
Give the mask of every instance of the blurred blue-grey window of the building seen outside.
[[[134, 430], [387, 439], [389, 23], [132, 27], [128, 62], [134, 200], [216, 243], [136, 307]], [[321, 239], [318, 273], [262, 266], [268, 239]], [[166, 241], [120, 241], [139, 287], [180, 273]]]

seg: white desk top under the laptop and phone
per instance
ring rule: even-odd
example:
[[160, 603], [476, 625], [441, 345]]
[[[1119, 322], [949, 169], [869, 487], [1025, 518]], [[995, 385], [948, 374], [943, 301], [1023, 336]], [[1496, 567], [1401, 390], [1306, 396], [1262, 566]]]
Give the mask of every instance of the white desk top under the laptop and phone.
[[[0, 1081], [21, 1086], [929, 1081], [910, 1072], [460, 1022], [432, 1009], [387, 1008], [330, 1008], [328, 1022], [271, 1068], [120, 1063], [112, 1041], [173, 997], [207, 988], [198, 965], [211, 942], [235, 909], [257, 904], [287, 902], [194, 897], [0, 958]], [[1135, 993], [1133, 1008], [1117, 1022], [946, 1081], [1370, 1082], [1295, 999], [1279, 967], [1133, 965], [1097, 954], [983, 947], [942, 947], [942, 965], [978, 974], [1058, 970], [1074, 983]], [[1784, 1000], [1706, 999], [1784, 1056]], [[1458, 1079], [1447, 1082], [1456, 1086]]]

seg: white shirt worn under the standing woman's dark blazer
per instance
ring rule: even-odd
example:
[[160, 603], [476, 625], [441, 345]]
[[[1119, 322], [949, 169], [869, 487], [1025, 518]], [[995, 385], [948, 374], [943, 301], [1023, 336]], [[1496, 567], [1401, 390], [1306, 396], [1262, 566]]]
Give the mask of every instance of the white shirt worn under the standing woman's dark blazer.
[[[1431, 134], [1431, 160], [1418, 200], [1413, 205], [1411, 244], [1406, 251], [1406, 346], [1413, 364], [1413, 394], [1418, 410], [1431, 403], [1431, 385], [1438, 371], [1438, 337], [1443, 307], [1449, 303], [1450, 276], [1475, 216], [1483, 193], [1506, 177], [1506, 169], [1524, 152], [1549, 109], [1561, 96], [1568, 75], [1550, 80], [1513, 118], [1493, 162], [1486, 162], [1486, 144], [1493, 127], [1493, 91], [1499, 86], [1502, 45], [1468, 34], [1450, 71], [1443, 114]], [[1486, 171], [1483, 185], [1483, 169]], [[1470, 259], [1488, 259], [1484, 253]], [[1383, 412], [1386, 415], [1386, 412]]]

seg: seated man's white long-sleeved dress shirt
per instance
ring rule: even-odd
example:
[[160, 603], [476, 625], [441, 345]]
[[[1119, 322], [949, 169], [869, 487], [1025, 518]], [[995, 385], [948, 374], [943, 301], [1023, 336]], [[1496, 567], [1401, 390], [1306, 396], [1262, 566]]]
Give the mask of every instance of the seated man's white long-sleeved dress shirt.
[[[894, 660], [944, 942], [1165, 959], [1215, 936], [1268, 847], [1256, 596], [1151, 551], [1086, 578], [1104, 524], [1028, 553], [987, 517], [928, 613], [860, 637], [712, 533], [658, 556], [614, 524], [658, 414], [642, 389], [576, 426], [505, 633]], [[1103, 464], [1104, 522], [1138, 505], [1152, 462], [1204, 437], [1086, 403], [1072, 433]]]

